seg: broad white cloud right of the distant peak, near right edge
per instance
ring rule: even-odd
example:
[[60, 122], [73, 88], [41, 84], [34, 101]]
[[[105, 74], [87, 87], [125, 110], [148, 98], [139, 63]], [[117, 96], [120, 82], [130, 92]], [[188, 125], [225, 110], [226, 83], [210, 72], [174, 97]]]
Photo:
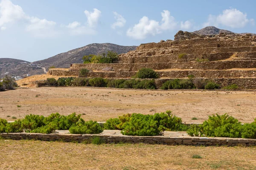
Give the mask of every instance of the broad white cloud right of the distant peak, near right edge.
[[228, 26], [231, 28], [243, 28], [248, 23], [254, 25], [253, 19], [248, 19], [247, 14], [243, 13], [236, 8], [226, 9], [218, 16], [209, 15], [208, 20], [203, 26]]

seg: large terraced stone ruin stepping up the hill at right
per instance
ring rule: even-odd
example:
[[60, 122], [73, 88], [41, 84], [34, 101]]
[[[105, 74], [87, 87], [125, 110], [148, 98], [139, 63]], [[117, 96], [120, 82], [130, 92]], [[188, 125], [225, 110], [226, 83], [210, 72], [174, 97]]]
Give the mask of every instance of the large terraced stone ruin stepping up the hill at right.
[[[116, 63], [72, 64], [70, 69], [49, 69], [53, 76], [79, 76], [81, 68], [88, 77], [131, 78], [140, 68], [152, 68], [160, 79], [185, 79], [188, 75], [217, 82], [221, 87], [236, 84], [256, 89], [255, 34], [220, 33], [201, 35], [178, 31], [175, 40], [141, 44], [135, 51], [120, 54]], [[180, 58], [186, 54], [186, 59]], [[81, 56], [82, 57], [82, 56]]]

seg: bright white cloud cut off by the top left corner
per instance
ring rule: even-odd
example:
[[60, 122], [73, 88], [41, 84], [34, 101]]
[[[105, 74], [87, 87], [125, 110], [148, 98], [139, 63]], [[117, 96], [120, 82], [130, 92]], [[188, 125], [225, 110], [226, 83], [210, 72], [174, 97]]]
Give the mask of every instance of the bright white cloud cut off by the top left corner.
[[26, 17], [20, 6], [14, 5], [10, 0], [0, 1], [0, 26], [13, 23]]

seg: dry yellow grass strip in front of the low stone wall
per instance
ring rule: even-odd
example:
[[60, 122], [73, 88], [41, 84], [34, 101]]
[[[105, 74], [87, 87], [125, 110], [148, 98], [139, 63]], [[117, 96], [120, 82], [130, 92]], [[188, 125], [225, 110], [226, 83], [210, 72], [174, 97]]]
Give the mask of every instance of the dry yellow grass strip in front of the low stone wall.
[[[255, 170], [256, 147], [76, 144], [0, 139], [1, 170]], [[193, 155], [202, 159], [193, 159]]]

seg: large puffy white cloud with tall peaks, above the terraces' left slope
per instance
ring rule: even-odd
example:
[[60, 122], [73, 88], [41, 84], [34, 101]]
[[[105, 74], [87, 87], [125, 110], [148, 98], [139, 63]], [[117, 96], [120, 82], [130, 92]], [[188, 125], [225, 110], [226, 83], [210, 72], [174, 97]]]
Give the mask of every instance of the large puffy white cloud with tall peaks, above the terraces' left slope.
[[179, 25], [179, 22], [171, 16], [168, 10], [161, 12], [162, 20], [161, 23], [155, 20], [149, 20], [148, 17], [144, 16], [140, 19], [139, 23], [135, 24], [133, 28], [129, 28], [126, 32], [128, 37], [132, 37], [137, 40], [145, 39], [148, 35], [160, 34], [163, 31], [173, 31], [179, 29], [183, 26], [190, 28], [192, 23], [186, 21], [185, 23]]

